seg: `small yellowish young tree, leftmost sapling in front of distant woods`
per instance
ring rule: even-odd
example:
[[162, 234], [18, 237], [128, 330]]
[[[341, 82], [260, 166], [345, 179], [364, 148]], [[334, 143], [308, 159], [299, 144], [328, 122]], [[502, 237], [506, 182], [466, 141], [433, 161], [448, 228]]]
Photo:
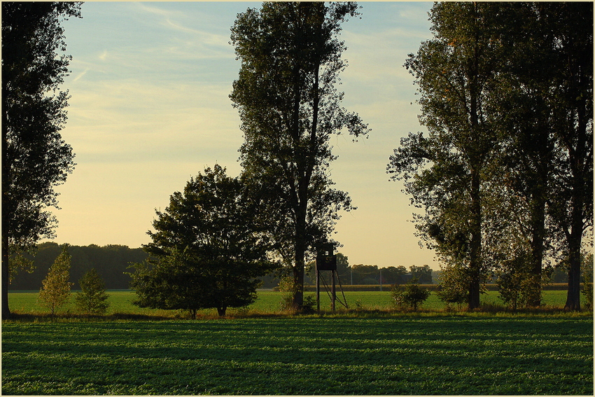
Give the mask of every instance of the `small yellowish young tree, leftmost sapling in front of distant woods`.
[[70, 288], [73, 283], [69, 282], [70, 258], [68, 245], [62, 246], [62, 252], [56, 258], [48, 271], [48, 276], [41, 281], [42, 287], [39, 291], [39, 302], [52, 310], [52, 316], [58, 307], [62, 307], [70, 298]]

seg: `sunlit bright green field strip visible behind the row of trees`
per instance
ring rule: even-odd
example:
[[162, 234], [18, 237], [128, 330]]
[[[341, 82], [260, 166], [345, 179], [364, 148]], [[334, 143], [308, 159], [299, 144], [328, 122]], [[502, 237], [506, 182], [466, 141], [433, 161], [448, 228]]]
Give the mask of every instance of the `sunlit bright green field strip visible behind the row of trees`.
[[[122, 313], [122, 314], [146, 314], [159, 316], [185, 316], [186, 314], [174, 314], [172, 310], [158, 310], [158, 309], [144, 309], [132, 305], [132, 301], [136, 297], [133, 291], [108, 291], [109, 293], [109, 310], [107, 314]], [[311, 295], [315, 297], [314, 293], [306, 293], [306, 296]], [[345, 300], [349, 309], [379, 309], [386, 310], [393, 307], [391, 302], [391, 293], [388, 291], [346, 291]], [[39, 305], [37, 302], [38, 293], [36, 292], [20, 292], [9, 293], [8, 302], [11, 312], [19, 314], [42, 314], [49, 312]], [[343, 301], [343, 295], [338, 293], [337, 298]], [[502, 305], [502, 301], [498, 298], [497, 291], [488, 291], [482, 295], [482, 305]], [[566, 302], [566, 291], [544, 291], [542, 303], [546, 307], [563, 307]], [[435, 293], [432, 293], [428, 300], [421, 306], [421, 309], [426, 310], [442, 310], [446, 305], [438, 299]], [[337, 309], [344, 308], [341, 303], [336, 303]], [[326, 293], [321, 293], [321, 309], [330, 309], [330, 298]], [[57, 313], [74, 313], [76, 308], [73, 300], [58, 309]], [[203, 314], [209, 314], [214, 310], [203, 311]], [[230, 313], [235, 312], [247, 313], [277, 313], [281, 312], [281, 293], [276, 291], [258, 291], [258, 300], [253, 305], [245, 308], [230, 309]]]

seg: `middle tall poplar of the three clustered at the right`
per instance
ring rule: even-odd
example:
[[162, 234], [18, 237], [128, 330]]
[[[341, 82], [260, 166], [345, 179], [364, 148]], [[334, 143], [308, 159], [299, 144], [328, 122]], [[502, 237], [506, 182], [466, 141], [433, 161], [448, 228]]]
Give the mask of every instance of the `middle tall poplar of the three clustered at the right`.
[[[500, 289], [521, 288], [524, 304], [539, 306], [542, 270], [554, 242], [547, 217], [559, 148], [556, 146], [550, 81], [554, 68], [549, 29], [538, 4], [507, 3], [500, 23], [503, 67], [489, 112], [498, 120], [500, 151], [491, 168], [491, 256], [500, 261]], [[511, 290], [511, 291], [512, 291]], [[510, 294], [509, 294], [510, 295]]]

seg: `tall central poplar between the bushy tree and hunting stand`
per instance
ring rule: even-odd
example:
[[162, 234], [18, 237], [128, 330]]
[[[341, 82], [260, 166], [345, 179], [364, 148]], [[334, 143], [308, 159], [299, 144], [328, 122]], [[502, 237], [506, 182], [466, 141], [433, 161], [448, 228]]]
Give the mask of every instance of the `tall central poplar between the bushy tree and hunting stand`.
[[367, 134], [356, 113], [343, 109], [335, 85], [346, 67], [341, 24], [358, 15], [355, 3], [273, 2], [248, 9], [232, 27], [241, 60], [230, 95], [239, 111], [244, 173], [265, 197], [277, 249], [293, 267], [293, 307], [303, 300], [304, 257], [325, 242], [337, 211], [352, 209], [347, 193], [331, 188], [331, 134]]

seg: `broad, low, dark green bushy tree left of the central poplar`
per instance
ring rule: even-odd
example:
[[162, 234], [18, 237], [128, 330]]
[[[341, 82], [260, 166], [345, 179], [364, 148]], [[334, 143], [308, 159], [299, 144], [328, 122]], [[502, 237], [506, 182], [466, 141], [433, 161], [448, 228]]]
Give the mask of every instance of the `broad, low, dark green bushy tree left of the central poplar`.
[[153, 242], [144, 246], [151, 258], [134, 265], [131, 287], [139, 307], [198, 309], [228, 307], [256, 299], [257, 277], [276, 265], [267, 258], [270, 245], [258, 222], [258, 204], [248, 186], [215, 165], [174, 193], [165, 211], [157, 211]]

